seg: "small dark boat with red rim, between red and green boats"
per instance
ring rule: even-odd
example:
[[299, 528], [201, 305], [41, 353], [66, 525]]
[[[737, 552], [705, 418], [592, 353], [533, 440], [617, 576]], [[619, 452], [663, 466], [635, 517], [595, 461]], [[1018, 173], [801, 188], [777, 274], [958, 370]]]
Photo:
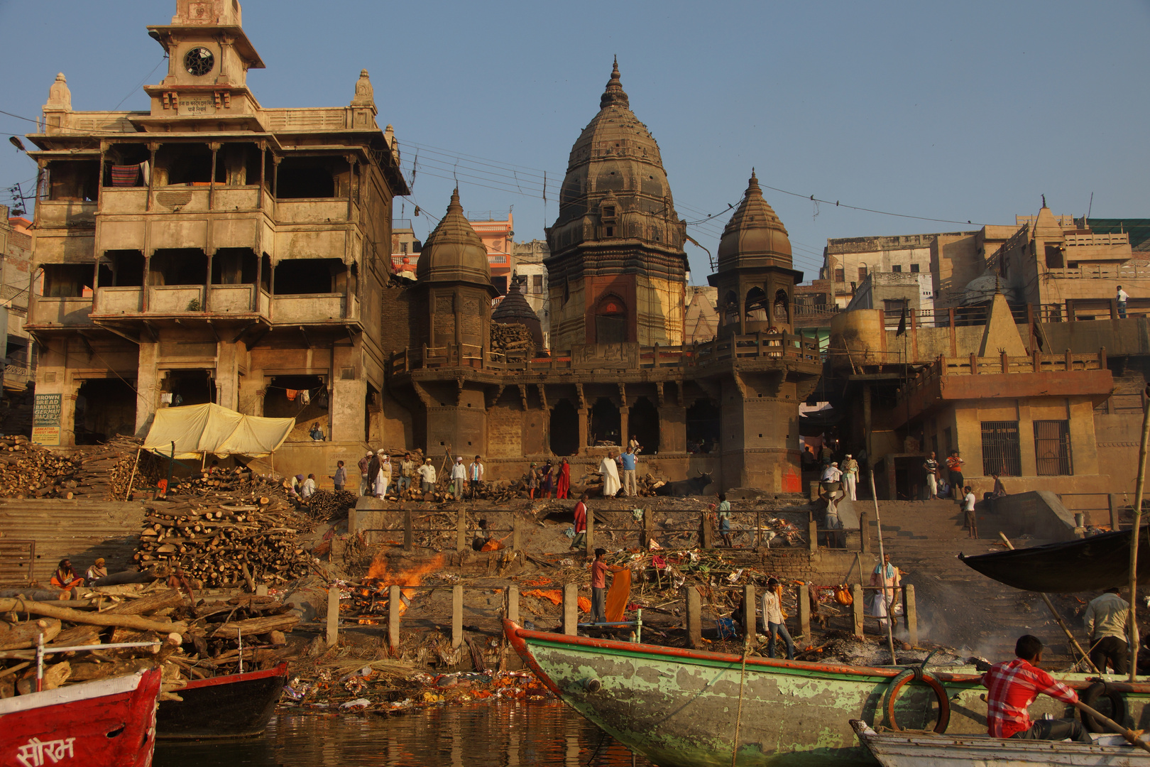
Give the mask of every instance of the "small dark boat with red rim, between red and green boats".
[[189, 682], [177, 690], [183, 700], [160, 704], [156, 737], [192, 741], [259, 735], [275, 713], [286, 683], [288, 664]]

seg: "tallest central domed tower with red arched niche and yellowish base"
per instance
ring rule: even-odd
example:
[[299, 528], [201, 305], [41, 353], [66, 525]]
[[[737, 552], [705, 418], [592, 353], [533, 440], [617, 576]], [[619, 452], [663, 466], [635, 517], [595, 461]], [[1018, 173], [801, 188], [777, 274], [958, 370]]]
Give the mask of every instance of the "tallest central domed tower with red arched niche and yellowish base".
[[551, 346], [683, 342], [687, 225], [659, 145], [631, 113], [618, 61], [572, 147], [547, 229]]

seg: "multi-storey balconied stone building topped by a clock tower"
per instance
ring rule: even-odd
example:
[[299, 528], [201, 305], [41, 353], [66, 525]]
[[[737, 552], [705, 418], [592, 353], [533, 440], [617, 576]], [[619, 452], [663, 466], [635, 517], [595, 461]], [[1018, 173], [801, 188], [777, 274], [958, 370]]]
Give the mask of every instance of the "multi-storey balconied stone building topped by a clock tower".
[[[40, 132], [37, 400], [69, 445], [213, 401], [294, 416], [278, 466], [330, 474], [382, 434], [392, 198], [407, 194], [367, 70], [344, 107], [267, 108], [233, 0], [177, 0], [147, 112], [74, 112], [63, 75]], [[76, 402], [99, 408], [76, 412]], [[319, 427], [324, 442], [307, 431]], [[53, 435], [54, 428], [54, 435]]]

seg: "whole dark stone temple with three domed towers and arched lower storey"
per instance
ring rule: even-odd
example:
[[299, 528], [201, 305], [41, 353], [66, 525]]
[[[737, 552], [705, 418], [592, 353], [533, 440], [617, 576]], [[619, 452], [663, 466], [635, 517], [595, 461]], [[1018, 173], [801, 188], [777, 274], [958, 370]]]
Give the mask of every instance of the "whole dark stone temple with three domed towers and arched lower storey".
[[455, 194], [424, 244], [417, 286], [385, 297], [390, 324], [407, 316], [412, 328], [388, 370], [396, 434], [432, 455], [481, 453], [490, 477], [565, 455], [596, 460], [634, 435], [649, 470], [666, 476], [800, 489], [798, 405], [820, 360], [788, 332], [802, 274], [753, 177], [712, 276], [738, 308], [718, 339], [689, 345], [684, 224], [618, 67], [572, 149], [547, 230], [549, 358], [513, 365], [489, 353], [489, 315], [475, 309], [493, 290], [490, 269], [461, 210]]

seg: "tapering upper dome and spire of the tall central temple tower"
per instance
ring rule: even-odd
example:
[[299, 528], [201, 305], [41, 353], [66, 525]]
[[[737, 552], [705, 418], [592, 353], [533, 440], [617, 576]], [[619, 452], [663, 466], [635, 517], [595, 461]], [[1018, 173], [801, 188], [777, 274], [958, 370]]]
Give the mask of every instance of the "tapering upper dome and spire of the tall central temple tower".
[[685, 231], [675, 215], [659, 145], [631, 112], [616, 61], [599, 113], [572, 147], [559, 217], [549, 230], [551, 252], [612, 238], [680, 250]]

